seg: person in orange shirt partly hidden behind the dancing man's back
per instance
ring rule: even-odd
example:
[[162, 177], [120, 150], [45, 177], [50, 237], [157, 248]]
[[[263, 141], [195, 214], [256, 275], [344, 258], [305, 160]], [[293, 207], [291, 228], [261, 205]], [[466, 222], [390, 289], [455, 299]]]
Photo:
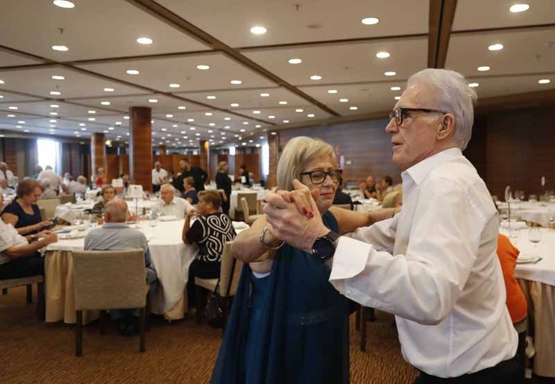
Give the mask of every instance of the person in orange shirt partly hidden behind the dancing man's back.
[[527, 330], [527, 314], [528, 304], [524, 293], [518, 285], [515, 278], [516, 259], [520, 251], [511, 244], [509, 238], [499, 234], [497, 238], [497, 257], [501, 262], [503, 278], [507, 292], [506, 305], [509, 309], [509, 315], [518, 332], [518, 356], [521, 362], [524, 362], [524, 348], [526, 347], [526, 330]]

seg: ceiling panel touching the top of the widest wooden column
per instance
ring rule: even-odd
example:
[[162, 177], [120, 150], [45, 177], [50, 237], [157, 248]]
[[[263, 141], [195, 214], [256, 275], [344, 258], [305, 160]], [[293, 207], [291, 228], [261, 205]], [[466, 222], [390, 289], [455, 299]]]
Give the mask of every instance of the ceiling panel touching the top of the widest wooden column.
[[[155, 102], [151, 102], [151, 101]], [[204, 110], [203, 106], [198, 106], [194, 103], [188, 103], [187, 101], [182, 101], [175, 97], [170, 97], [165, 94], [140, 94], [134, 96], [122, 96], [122, 97], [102, 97], [94, 99], [78, 99], [74, 100], [85, 106], [91, 106], [92, 108], [101, 108], [103, 101], [108, 101], [110, 103], [109, 108], [112, 110], [121, 110], [121, 112], [127, 113], [130, 107], [148, 107], [152, 108], [152, 112], [181, 112], [183, 110]], [[185, 107], [185, 109], [180, 109], [179, 107]], [[107, 106], [108, 108], [108, 106]]]

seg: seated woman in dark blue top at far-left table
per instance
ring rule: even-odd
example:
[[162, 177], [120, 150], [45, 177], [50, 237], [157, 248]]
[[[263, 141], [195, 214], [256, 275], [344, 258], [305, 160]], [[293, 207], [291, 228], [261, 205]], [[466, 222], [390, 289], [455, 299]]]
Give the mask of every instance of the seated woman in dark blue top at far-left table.
[[20, 235], [33, 235], [44, 227], [52, 226], [50, 221], [42, 221], [37, 200], [42, 194], [42, 186], [33, 178], [27, 178], [17, 185], [17, 198], [2, 211], [2, 219], [12, 224]]

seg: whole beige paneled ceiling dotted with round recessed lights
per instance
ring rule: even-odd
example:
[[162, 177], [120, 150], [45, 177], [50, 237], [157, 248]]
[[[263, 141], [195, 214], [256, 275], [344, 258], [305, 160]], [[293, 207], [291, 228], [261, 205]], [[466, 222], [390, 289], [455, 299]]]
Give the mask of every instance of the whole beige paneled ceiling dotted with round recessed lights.
[[[481, 98], [555, 87], [554, 27], [461, 33], [555, 23], [552, 0], [525, 2], [531, 8], [515, 14], [509, 12], [512, 0], [457, 4], [453, 29], [458, 32], [451, 35], [446, 67], [479, 83], [476, 90]], [[109, 139], [119, 135], [126, 140], [129, 127], [124, 117], [129, 108], [147, 106], [152, 108], [154, 144], [169, 141], [172, 146], [181, 142], [178, 146], [197, 147], [197, 139], [213, 139], [219, 145], [222, 133], [223, 144], [237, 144], [239, 136], [241, 141], [253, 138], [255, 144], [266, 131], [321, 122], [334, 117], [333, 113], [384, 112], [395, 104], [394, 97], [400, 95], [407, 78], [427, 66], [428, 0], [350, 0], [348, 6], [335, 0], [157, 0], [262, 71], [214, 51], [131, 2], [74, 3], [76, 7], [68, 10], [51, 0], [2, 2], [0, 46], [6, 48], [0, 47], [1, 130], [48, 135], [54, 129], [55, 135], [84, 138], [105, 131]], [[364, 17], [377, 17], [379, 23], [362, 24]], [[257, 25], [265, 26], [267, 33], [250, 33]], [[63, 34], [58, 28], [64, 28]], [[138, 44], [138, 37], [154, 42]], [[358, 40], [345, 41], [349, 39]], [[488, 51], [494, 43], [504, 44], [504, 49]], [[65, 44], [69, 51], [53, 51], [54, 44]], [[378, 51], [391, 56], [376, 58]], [[300, 58], [302, 63], [291, 65], [290, 58]], [[210, 65], [210, 69], [200, 70], [197, 65]], [[491, 69], [478, 72], [480, 65]], [[139, 74], [126, 74], [128, 69]], [[396, 74], [385, 76], [386, 71]], [[53, 80], [53, 75], [65, 80]], [[322, 78], [311, 80], [312, 75]], [[538, 84], [540, 78], [552, 82]], [[180, 87], [169, 87], [170, 83]], [[392, 86], [401, 90], [392, 91]], [[51, 91], [61, 94], [51, 95]]]

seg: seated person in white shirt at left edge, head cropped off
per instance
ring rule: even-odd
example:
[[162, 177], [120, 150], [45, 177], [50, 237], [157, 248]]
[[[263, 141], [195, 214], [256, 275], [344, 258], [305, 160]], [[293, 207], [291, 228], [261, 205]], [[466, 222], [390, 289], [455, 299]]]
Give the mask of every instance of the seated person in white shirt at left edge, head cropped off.
[[0, 219], [0, 280], [44, 274], [38, 250], [57, 241], [58, 235], [50, 231], [19, 235], [12, 224]]

